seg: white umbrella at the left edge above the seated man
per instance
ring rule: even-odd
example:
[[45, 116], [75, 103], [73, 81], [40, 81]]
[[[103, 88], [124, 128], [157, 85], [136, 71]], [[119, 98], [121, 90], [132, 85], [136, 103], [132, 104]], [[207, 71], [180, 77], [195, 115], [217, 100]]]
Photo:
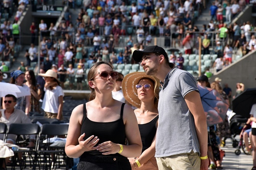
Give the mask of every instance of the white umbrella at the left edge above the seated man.
[[[15, 85], [15, 84], [11, 84], [11, 85]], [[1, 88], [1, 85], [0, 85], [0, 88]], [[28, 87], [15, 85], [15, 88], [18, 88], [18, 91], [14, 91], [13, 89], [10, 89], [8, 91], [2, 91], [0, 94], [0, 97], [4, 97], [6, 95], [13, 95], [16, 98], [23, 97], [23, 96], [31, 96], [31, 92]]]

